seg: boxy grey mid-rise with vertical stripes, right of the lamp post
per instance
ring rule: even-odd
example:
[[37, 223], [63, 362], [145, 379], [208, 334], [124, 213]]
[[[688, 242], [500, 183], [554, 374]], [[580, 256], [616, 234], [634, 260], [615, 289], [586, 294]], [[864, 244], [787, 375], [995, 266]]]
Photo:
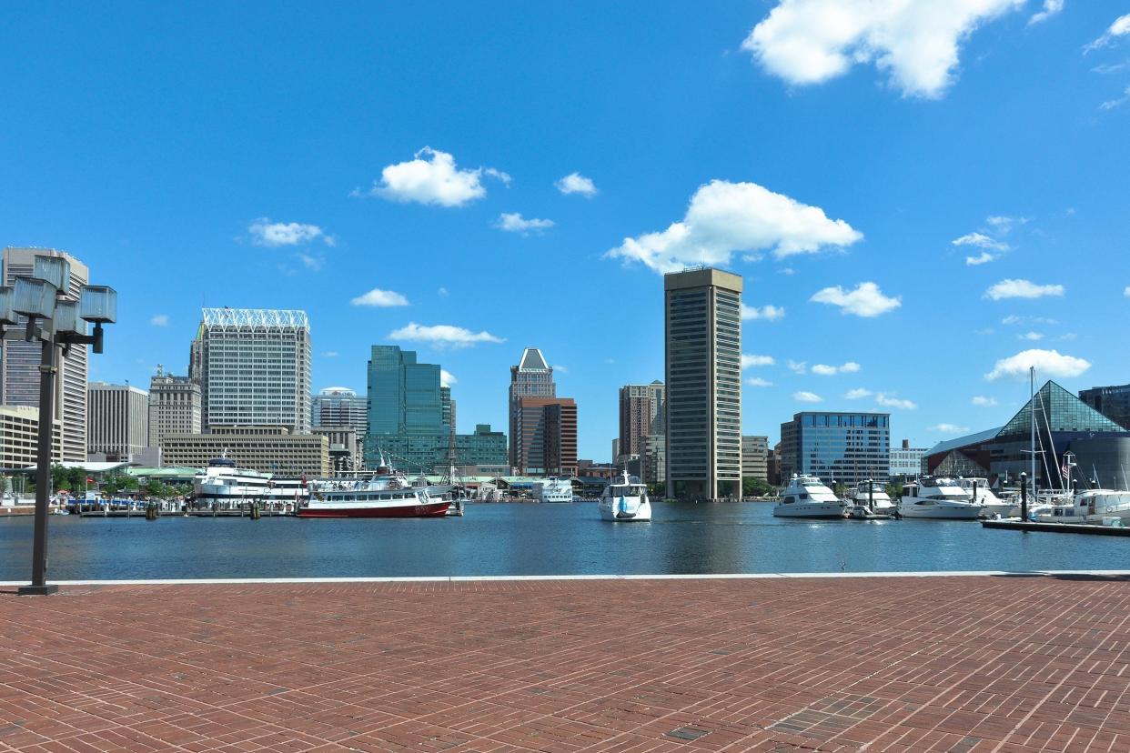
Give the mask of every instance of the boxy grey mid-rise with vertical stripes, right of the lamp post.
[[87, 455], [132, 462], [149, 446], [149, 393], [128, 384], [87, 386]]

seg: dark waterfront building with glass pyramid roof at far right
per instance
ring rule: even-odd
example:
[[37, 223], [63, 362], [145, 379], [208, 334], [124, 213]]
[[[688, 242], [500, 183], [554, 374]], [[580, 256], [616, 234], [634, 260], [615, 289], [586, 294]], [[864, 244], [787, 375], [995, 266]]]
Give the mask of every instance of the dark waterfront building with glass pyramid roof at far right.
[[1016, 485], [1032, 474], [1032, 423], [1036, 426], [1036, 483], [1070, 487], [1063, 476], [1071, 453], [1071, 480], [1081, 485], [1130, 489], [1130, 431], [1049, 380], [1002, 427], [941, 441], [927, 450], [925, 473], [988, 478], [993, 488]]

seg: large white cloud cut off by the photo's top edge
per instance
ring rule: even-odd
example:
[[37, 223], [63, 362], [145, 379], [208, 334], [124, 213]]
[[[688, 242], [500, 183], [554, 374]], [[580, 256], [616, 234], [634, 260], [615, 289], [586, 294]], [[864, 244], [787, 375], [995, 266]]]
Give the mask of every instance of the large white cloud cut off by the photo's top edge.
[[741, 49], [793, 85], [875, 62], [905, 96], [940, 97], [960, 44], [979, 25], [1026, 0], [780, 0]]

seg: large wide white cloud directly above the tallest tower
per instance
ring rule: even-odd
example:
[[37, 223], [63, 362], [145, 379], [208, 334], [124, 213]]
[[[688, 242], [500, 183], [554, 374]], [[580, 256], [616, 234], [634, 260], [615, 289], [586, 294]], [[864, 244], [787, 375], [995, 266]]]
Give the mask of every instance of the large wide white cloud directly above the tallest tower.
[[642, 262], [657, 272], [725, 265], [736, 252], [772, 249], [779, 257], [850, 246], [863, 235], [819, 207], [756, 183], [711, 181], [698, 186], [681, 220], [666, 230], [625, 238], [606, 256]]

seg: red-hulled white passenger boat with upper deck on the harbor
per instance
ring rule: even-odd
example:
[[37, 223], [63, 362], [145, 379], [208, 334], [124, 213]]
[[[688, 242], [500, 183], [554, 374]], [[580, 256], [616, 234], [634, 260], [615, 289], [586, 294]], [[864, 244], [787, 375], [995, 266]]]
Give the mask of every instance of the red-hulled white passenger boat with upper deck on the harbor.
[[308, 485], [299, 518], [431, 518], [443, 517], [451, 505], [386, 466], [370, 476], [339, 476]]

